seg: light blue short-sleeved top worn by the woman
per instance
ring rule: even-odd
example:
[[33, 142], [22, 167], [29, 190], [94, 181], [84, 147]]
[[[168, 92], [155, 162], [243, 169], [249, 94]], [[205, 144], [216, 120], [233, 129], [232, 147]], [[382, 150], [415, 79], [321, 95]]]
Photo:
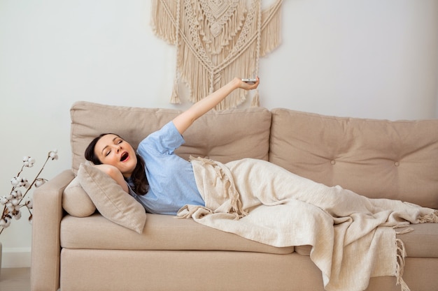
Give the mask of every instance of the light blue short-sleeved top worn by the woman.
[[176, 215], [186, 204], [205, 205], [192, 164], [174, 153], [184, 142], [172, 121], [140, 142], [137, 152], [146, 164], [149, 190], [145, 195], [130, 192], [146, 211]]

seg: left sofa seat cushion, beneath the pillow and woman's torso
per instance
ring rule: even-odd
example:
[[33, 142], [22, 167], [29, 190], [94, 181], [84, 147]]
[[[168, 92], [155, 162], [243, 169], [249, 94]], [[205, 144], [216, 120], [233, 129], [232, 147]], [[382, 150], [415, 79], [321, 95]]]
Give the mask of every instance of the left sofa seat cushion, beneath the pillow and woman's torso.
[[62, 248], [123, 250], [248, 251], [288, 254], [293, 247], [276, 248], [250, 241], [176, 216], [148, 214], [143, 233], [121, 227], [100, 214], [85, 218], [64, 216]]

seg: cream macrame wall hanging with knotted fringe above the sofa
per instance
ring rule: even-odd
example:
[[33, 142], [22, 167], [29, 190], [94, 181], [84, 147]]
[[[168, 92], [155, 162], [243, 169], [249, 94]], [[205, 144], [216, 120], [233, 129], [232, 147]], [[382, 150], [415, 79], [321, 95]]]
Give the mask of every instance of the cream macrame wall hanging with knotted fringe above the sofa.
[[[258, 75], [260, 57], [281, 41], [281, 3], [262, 9], [261, 0], [153, 0], [155, 34], [176, 45], [171, 103], [181, 103], [180, 79], [195, 103], [234, 77]], [[216, 110], [236, 107], [247, 94], [233, 91]], [[259, 105], [258, 91], [251, 105]]]

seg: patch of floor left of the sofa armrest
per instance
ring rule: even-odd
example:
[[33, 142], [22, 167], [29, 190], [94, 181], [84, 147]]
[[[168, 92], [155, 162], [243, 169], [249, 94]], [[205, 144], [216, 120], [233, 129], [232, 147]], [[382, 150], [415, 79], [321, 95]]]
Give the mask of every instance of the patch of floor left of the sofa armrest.
[[30, 268], [2, 268], [0, 291], [30, 291]]

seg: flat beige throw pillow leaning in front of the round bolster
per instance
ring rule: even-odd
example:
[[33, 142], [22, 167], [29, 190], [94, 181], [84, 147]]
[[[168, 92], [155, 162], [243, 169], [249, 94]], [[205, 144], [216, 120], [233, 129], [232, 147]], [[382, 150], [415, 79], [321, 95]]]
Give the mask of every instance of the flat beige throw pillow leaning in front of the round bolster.
[[83, 163], [79, 166], [78, 179], [102, 216], [135, 232], [143, 232], [145, 209], [116, 181], [97, 167]]

